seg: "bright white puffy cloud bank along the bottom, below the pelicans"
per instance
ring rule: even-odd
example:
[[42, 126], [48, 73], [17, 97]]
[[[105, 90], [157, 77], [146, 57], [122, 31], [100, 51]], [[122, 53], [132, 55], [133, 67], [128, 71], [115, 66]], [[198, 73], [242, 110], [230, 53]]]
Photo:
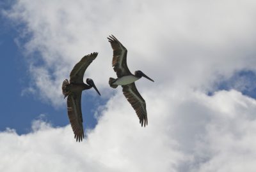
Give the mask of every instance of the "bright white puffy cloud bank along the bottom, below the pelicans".
[[256, 101], [236, 90], [178, 93], [143, 94], [145, 128], [117, 94], [82, 143], [70, 125], [53, 128], [38, 120], [32, 133], [2, 132], [0, 170], [254, 171]]

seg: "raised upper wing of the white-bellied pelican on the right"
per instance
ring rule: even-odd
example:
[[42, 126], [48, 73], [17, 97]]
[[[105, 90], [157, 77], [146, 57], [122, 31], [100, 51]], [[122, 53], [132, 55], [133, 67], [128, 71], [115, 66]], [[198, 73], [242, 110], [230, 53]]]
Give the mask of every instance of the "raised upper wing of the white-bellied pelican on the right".
[[112, 66], [114, 67], [114, 71], [116, 72], [118, 78], [125, 75], [131, 75], [131, 72], [129, 71], [126, 62], [126, 48], [113, 35], [109, 36], [108, 41], [113, 49]]

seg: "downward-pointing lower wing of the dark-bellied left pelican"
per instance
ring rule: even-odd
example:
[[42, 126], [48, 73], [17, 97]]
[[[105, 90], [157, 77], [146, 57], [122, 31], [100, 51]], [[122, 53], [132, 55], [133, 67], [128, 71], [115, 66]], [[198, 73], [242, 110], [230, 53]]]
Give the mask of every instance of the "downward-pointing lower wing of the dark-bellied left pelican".
[[68, 118], [75, 134], [75, 139], [79, 142], [84, 138], [81, 94], [82, 92], [72, 92], [67, 99]]

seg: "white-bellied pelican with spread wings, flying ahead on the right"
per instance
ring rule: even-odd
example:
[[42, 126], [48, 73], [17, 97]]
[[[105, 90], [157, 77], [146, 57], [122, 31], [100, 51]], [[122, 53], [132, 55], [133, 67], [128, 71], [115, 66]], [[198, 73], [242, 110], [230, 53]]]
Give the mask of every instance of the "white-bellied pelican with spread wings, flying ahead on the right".
[[141, 127], [143, 124], [145, 127], [145, 125], [148, 124], [146, 103], [143, 97], [140, 96], [134, 82], [139, 80], [142, 76], [152, 82], [154, 82], [154, 80], [149, 78], [142, 71], [135, 71], [134, 75], [132, 75], [126, 63], [127, 49], [113, 35], [109, 36], [108, 41], [113, 49], [112, 66], [114, 67], [114, 71], [118, 77], [116, 79], [109, 78], [109, 85], [114, 89], [118, 85], [122, 85], [124, 96], [140, 118]]

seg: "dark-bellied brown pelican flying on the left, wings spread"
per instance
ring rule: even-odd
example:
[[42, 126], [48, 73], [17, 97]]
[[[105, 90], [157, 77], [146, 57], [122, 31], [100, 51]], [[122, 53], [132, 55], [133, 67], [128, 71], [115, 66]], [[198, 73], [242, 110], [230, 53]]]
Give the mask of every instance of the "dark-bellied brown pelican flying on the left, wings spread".
[[83, 90], [91, 89], [92, 87], [98, 92], [93, 80], [90, 78], [86, 79], [85, 84], [83, 82], [84, 71], [91, 64], [91, 62], [97, 57], [98, 53], [85, 55], [81, 61], [72, 69], [70, 73], [70, 83], [65, 79], [62, 83], [62, 92], [67, 99], [68, 118], [75, 134], [76, 141], [82, 141], [84, 138], [83, 129], [83, 117], [81, 110], [81, 95]]

